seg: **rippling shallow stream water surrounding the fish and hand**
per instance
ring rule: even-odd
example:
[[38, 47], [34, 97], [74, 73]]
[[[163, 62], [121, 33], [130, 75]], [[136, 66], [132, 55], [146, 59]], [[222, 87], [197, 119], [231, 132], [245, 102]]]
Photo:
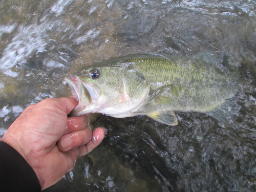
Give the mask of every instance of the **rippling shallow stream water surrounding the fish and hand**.
[[238, 118], [92, 117], [108, 136], [45, 191], [255, 191], [254, 1], [2, 1], [0, 134], [29, 104], [70, 95], [82, 65], [129, 54], [218, 52], [240, 69]]

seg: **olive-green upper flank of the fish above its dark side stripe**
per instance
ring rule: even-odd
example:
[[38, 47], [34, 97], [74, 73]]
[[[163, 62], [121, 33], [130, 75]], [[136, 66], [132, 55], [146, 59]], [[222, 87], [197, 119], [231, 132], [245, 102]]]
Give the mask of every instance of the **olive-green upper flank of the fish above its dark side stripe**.
[[[202, 69], [199, 69], [195, 63], [188, 62], [188, 65], [185, 67], [180, 67], [179, 62], [174, 63], [168, 59], [156, 58], [130, 59], [128, 62], [135, 63], [135, 69], [144, 75], [153, 90], [158, 89], [159, 84], [191, 85], [197, 83], [202, 87], [209, 87], [214, 86], [220, 79], [220, 76], [217, 77], [218, 74], [209, 73], [209, 71], [212, 71], [213, 69], [205, 67], [202, 71]], [[195, 67], [193, 67], [193, 65]], [[222, 83], [222, 81], [219, 82]]]

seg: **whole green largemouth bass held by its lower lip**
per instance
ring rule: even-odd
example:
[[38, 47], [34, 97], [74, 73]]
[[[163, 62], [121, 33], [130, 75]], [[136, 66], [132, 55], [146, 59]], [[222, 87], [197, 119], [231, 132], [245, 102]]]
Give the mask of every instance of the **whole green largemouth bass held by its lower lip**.
[[146, 115], [173, 126], [175, 112], [213, 113], [238, 93], [239, 71], [212, 55], [130, 55], [82, 67], [65, 78], [79, 101], [70, 115]]

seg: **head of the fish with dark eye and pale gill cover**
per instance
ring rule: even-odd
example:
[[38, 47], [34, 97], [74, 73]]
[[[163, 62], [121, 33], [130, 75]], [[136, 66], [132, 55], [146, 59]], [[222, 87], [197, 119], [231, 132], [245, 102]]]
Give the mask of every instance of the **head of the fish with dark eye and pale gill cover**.
[[[114, 116], [127, 113], [137, 108], [150, 93], [150, 86], [144, 76], [134, 69], [128, 69], [127, 66], [99, 67], [83, 71], [83, 74], [76, 76], [80, 83], [69, 83], [74, 87], [72, 89], [79, 90], [77, 92], [82, 95], [78, 98], [83, 100], [72, 111], [72, 116], [89, 113]], [[92, 74], [93, 77], [90, 75], [92, 71], [97, 71], [97, 74]], [[82, 88], [79, 87], [81, 85]], [[83, 89], [86, 91], [82, 91]], [[88, 100], [90, 103], [84, 102]]]

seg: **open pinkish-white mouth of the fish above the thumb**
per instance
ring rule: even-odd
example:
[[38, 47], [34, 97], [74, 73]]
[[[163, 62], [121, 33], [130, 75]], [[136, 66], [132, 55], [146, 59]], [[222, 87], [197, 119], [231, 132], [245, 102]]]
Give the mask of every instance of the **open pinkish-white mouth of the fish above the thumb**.
[[84, 83], [77, 76], [71, 75], [70, 77], [65, 77], [64, 80], [68, 83], [73, 98], [79, 101], [80, 105], [84, 106], [91, 103], [92, 98], [90, 92], [93, 91], [87, 90], [83, 85]]

